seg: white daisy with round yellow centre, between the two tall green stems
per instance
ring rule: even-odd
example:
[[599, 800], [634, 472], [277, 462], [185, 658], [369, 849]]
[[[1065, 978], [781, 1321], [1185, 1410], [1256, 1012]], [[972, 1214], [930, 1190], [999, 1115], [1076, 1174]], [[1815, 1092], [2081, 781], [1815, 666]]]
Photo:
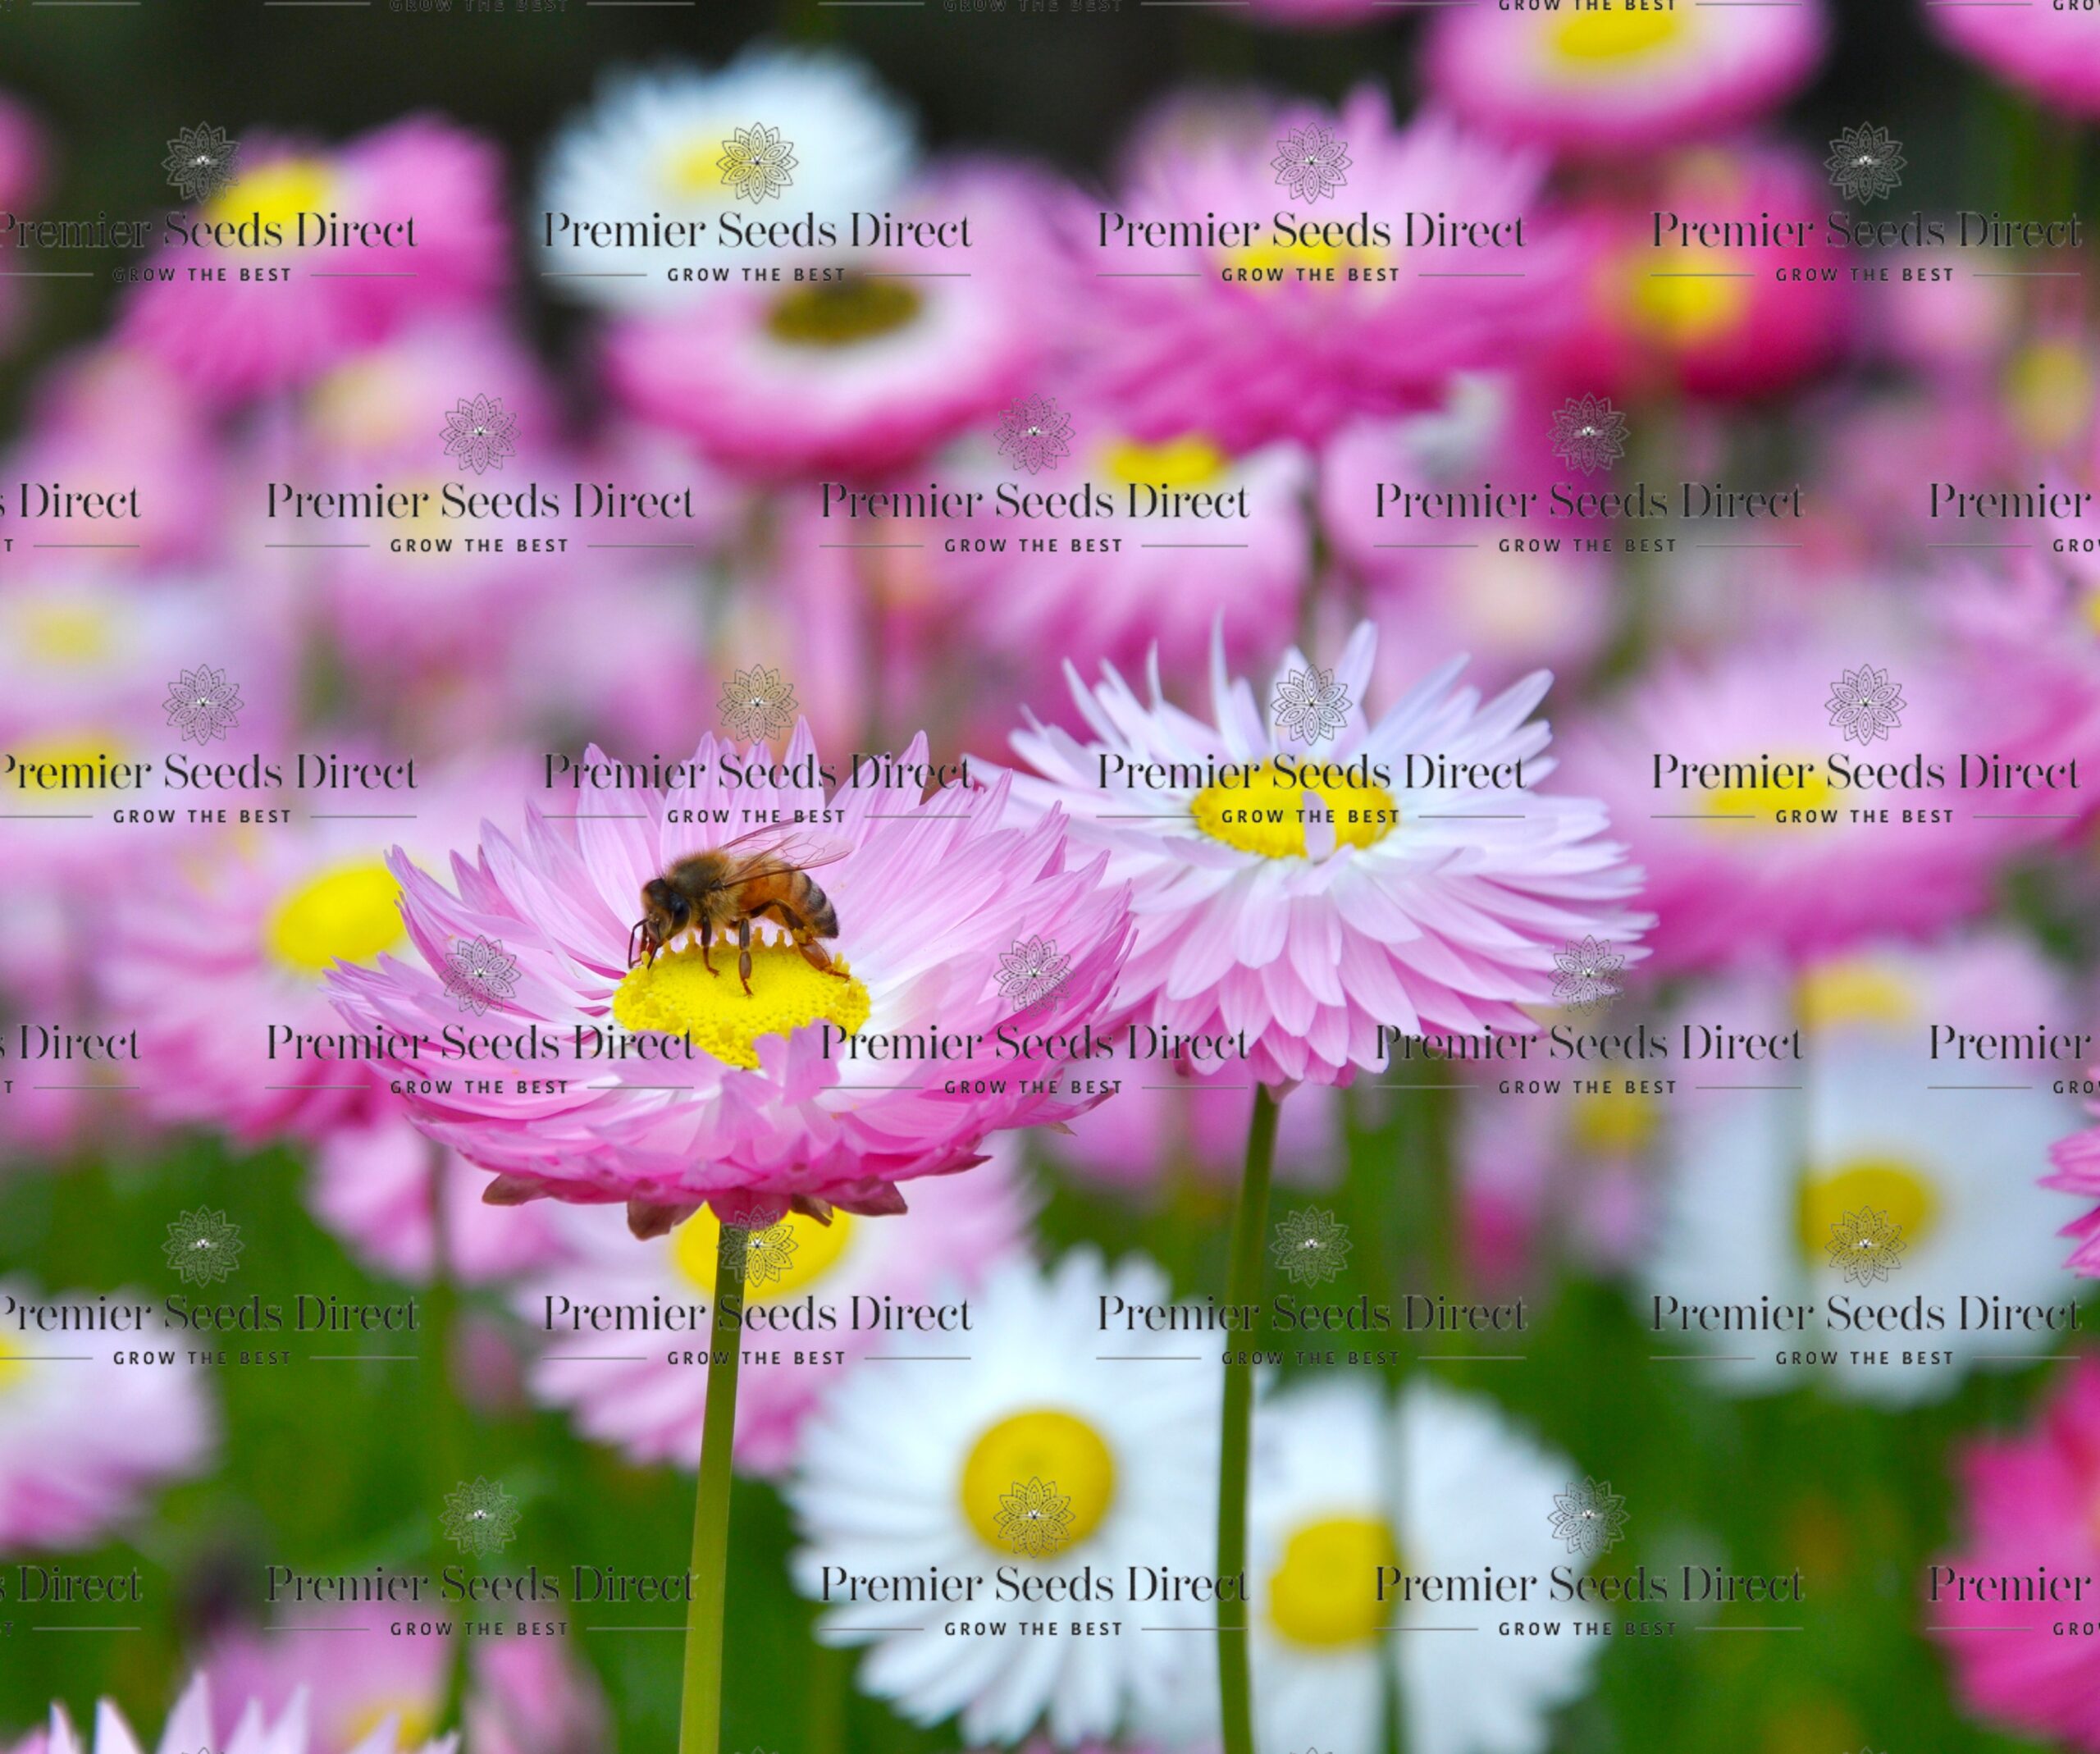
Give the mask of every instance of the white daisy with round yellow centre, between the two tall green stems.
[[[1105, 1296], [1170, 1302], [1149, 1260], [1105, 1267], [1079, 1250], [1048, 1275], [1008, 1265], [972, 1298], [970, 1334], [943, 1346], [966, 1359], [861, 1363], [804, 1435], [788, 1491], [804, 1538], [796, 1582], [821, 1599], [834, 1580], [819, 1638], [869, 1645], [861, 1685], [914, 1722], [960, 1712], [972, 1743], [1046, 1722], [1073, 1743], [1210, 1704], [1201, 1628], [1216, 1605], [1132, 1603], [1128, 1580], [1130, 1567], [1214, 1567], [1218, 1349], [1195, 1334], [1102, 1332]], [[1037, 1590], [1092, 1573], [1115, 1596], [1000, 1601], [1002, 1567]], [[934, 1569], [979, 1580], [974, 1599], [846, 1601], [836, 1584], [840, 1571]], [[1042, 1620], [1060, 1622], [1058, 1636], [1023, 1630]], [[1071, 1620], [1121, 1630], [1071, 1636]]]

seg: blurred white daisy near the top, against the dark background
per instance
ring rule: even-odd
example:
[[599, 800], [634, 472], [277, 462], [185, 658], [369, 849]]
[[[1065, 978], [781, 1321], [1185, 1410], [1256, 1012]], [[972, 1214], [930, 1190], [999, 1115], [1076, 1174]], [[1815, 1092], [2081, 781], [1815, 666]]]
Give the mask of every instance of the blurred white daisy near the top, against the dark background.
[[[739, 130], [764, 128], [792, 147], [792, 183], [762, 210], [724, 174]], [[783, 260], [790, 250], [729, 244], [722, 218], [794, 221], [804, 212], [840, 231], [857, 208], [880, 210], [916, 158], [911, 118], [844, 55], [750, 48], [720, 71], [664, 67], [609, 76], [590, 109], [548, 149], [536, 235], [550, 286], [594, 305], [662, 307], [697, 281], [672, 269], [729, 269]], [[567, 218], [567, 225], [565, 225]], [[626, 225], [638, 242], [588, 227]], [[657, 246], [657, 225], [691, 225], [691, 242]], [[704, 227], [704, 229], [701, 229]]]

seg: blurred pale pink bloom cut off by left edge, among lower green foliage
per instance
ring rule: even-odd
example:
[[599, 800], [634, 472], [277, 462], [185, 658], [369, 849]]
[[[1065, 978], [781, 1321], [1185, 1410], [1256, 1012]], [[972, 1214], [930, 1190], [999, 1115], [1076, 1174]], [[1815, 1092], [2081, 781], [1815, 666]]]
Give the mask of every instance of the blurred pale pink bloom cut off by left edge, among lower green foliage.
[[[23, 1279], [0, 1283], [0, 1548], [92, 1546], [151, 1491], [204, 1470], [210, 1401], [183, 1361], [120, 1365], [109, 1344], [19, 1325], [8, 1302], [99, 1307], [101, 1294], [46, 1298]], [[153, 1298], [120, 1290], [107, 1302]], [[52, 1357], [78, 1351], [88, 1357]]]

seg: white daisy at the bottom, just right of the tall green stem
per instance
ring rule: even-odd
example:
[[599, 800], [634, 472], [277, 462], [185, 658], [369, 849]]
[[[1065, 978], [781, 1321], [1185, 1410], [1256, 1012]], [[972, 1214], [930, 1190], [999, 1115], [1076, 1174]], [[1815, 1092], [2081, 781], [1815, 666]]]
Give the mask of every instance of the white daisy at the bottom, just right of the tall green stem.
[[[1266, 1401], [1247, 1533], [1260, 1746], [1378, 1754], [1390, 1672], [1411, 1754], [1546, 1748], [1548, 1714], [1581, 1691], [1600, 1643], [1571, 1636], [1573, 1611], [1409, 1603], [1390, 1582], [1380, 1601], [1378, 1567], [1544, 1578], [1571, 1563], [1550, 1512], [1573, 1473], [1491, 1401], [1432, 1382], [1396, 1410], [1361, 1376]], [[1495, 1630], [1514, 1617], [1562, 1630]]]

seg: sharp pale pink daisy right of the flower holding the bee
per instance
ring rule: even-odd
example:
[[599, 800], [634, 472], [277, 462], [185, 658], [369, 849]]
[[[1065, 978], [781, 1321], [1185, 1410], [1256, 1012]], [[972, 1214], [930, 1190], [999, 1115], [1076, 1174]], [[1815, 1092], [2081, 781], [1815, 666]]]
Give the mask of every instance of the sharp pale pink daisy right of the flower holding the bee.
[[1371, 721], [1376, 653], [1369, 622], [1331, 670], [1292, 651], [1264, 699], [1214, 653], [1216, 725], [1157, 674], [1149, 706], [1113, 670], [1092, 691], [1073, 674], [1090, 737], [1031, 721], [1012, 739], [1033, 769], [1016, 807], [1069, 813], [1132, 886], [1119, 1000], [1168, 1031], [1245, 1031], [1233, 1080], [1348, 1082], [1384, 1065], [1382, 1027], [1531, 1033], [1556, 947], [1630, 947], [1648, 924], [1604, 807], [1533, 790], [1554, 767], [1531, 718], [1550, 676], [1483, 704], [1455, 660]]

